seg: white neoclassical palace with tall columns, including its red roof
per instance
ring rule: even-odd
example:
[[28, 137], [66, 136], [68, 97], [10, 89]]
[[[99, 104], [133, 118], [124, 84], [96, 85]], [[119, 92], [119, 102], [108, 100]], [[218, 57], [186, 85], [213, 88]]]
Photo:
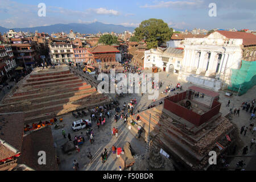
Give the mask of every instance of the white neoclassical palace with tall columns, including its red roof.
[[255, 45], [256, 36], [245, 32], [215, 31], [205, 38], [186, 38], [179, 80], [224, 89], [230, 85], [232, 68], [241, 67], [244, 48]]

